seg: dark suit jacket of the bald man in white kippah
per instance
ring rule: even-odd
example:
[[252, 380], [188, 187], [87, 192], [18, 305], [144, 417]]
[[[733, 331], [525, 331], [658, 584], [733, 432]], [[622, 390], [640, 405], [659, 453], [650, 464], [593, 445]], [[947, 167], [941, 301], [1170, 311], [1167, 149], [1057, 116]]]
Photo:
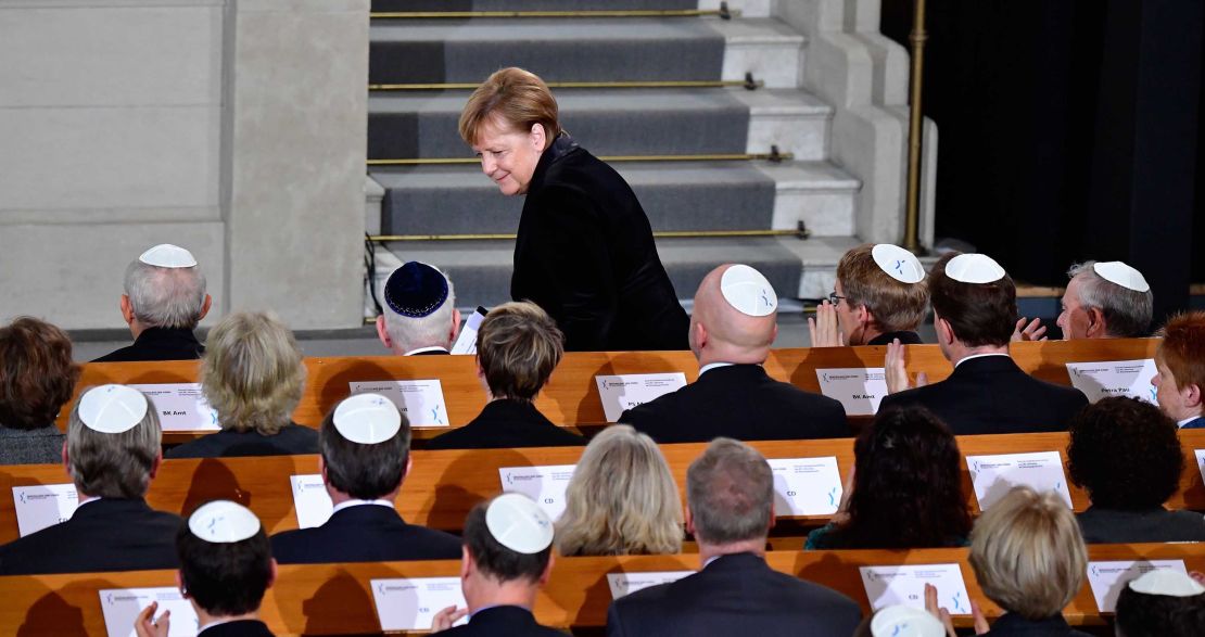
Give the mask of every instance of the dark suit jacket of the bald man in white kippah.
[[707, 370], [694, 383], [623, 412], [619, 421], [660, 443], [852, 435], [839, 401], [775, 381], [760, 365]]

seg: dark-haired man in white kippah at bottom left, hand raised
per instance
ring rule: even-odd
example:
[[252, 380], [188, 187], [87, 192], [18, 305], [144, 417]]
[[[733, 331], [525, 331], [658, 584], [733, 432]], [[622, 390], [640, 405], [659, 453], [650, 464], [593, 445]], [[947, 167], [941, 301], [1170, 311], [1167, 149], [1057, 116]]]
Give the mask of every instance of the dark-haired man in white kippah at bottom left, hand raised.
[[[276, 580], [276, 560], [254, 513], [229, 500], [202, 505], [176, 533], [176, 549], [177, 582], [196, 612], [198, 637], [272, 637], [259, 604]], [[170, 612], [155, 618], [158, 607], [139, 613], [137, 637], [167, 637]]]

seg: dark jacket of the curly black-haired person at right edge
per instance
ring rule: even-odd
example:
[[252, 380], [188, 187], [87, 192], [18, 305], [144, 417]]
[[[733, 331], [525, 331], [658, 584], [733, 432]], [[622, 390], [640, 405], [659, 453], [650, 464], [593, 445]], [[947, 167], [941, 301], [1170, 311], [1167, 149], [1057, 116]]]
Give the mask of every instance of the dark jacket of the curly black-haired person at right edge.
[[1205, 515], [1192, 511], [1117, 511], [1088, 507], [1075, 519], [1089, 544], [1205, 542]]

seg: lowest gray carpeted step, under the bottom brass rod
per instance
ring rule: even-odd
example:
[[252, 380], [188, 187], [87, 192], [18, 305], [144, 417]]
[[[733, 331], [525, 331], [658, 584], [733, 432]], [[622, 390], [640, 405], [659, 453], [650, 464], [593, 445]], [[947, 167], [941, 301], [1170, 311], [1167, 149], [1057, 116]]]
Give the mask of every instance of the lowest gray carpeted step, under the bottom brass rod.
[[[780, 296], [793, 297], [803, 263], [784, 241], [798, 240], [663, 238], [657, 250], [681, 300], [693, 297], [703, 277], [725, 263], [758, 269]], [[446, 271], [455, 284], [458, 306], [489, 307], [510, 300], [512, 241], [398, 242], [387, 248], [402, 261], [425, 261]]]

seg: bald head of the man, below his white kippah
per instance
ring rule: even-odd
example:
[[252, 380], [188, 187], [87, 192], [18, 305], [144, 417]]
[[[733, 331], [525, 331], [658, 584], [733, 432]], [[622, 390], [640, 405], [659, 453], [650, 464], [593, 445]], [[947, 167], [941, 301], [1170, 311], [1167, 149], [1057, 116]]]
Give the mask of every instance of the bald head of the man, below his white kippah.
[[736, 309], [724, 299], [721, 279], [730, 267], [733, 264], [725, 264], [707, 273], [694, 295], [690, 350], [704, 365], [721, 361], [763, 362], [778, 334], [777, 311], [753, 317]]

